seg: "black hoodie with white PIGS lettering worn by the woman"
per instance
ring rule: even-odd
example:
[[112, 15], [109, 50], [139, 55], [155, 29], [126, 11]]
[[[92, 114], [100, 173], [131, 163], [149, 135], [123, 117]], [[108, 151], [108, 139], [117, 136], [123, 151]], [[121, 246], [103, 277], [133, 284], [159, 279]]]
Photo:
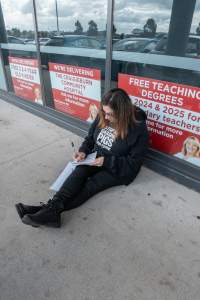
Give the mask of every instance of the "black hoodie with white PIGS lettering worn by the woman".
[[129, 184], [136, 177], [148, 149], [145, 112], [137, 108], [136, 118], [137, 123], [129, 128], [127, 137], [115, 139], [114, 129], [109, 126], [99, 128], [97, 117], [79, 148], [86, 155], [97, 151], [97, 157], [104, 157], [103, 167], [121, 178], [124, 184]]

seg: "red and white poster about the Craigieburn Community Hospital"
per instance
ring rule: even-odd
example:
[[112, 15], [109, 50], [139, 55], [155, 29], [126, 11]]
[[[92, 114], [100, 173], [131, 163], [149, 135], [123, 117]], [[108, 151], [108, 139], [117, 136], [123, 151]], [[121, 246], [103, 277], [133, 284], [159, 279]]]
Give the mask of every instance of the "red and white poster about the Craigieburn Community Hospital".
[[96, 69], [49, 63], [55, 108], [92, 122], [101, 100], [101, 72]]

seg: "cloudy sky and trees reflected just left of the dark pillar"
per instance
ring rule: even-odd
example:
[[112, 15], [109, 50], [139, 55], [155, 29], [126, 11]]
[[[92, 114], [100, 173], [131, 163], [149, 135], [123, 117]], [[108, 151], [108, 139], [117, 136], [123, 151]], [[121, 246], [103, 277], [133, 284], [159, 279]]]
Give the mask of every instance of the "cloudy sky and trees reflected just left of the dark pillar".
[[114, 36], [128, 37], [160, 37], [169, 30], [173, 0], [147, 1], [133, 0], [115, 1]]

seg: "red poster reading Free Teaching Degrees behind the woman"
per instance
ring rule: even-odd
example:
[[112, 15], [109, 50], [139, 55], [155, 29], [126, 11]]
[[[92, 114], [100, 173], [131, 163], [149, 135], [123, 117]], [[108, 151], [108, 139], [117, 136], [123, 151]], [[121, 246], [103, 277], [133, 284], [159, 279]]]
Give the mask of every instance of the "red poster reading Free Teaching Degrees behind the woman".
[[152, 148], [200, 166], [200, 88], [127, 74], [118, 86], [146, 112]]

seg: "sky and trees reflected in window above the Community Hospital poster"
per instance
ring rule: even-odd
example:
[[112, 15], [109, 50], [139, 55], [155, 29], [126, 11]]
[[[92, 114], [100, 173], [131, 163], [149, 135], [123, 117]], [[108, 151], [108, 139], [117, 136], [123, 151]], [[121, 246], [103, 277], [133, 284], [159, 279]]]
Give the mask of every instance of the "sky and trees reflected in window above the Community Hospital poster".
[[[47, 41], [48, 45], [54, 46], [56, 37], [68, 35], [81, 35], [96, 38], [101, 45], [105, 45], [106, 35], [106, 11], [107, 1], [36, 1], [37, 19], [40, 38], [49, 38], [54, 41]], [[67, 47], [61, 43], [59, 46]], [[57, 46], [57, 45], [55, 45]], [[79, 46], [79, 45], [78, 45]], [[75, 45], [75, 47], [78, 47]], [[91, 48], [91, 43], [84, 47]], [[99, 48], [97, 42], [93, 43], [94, 48]]]

